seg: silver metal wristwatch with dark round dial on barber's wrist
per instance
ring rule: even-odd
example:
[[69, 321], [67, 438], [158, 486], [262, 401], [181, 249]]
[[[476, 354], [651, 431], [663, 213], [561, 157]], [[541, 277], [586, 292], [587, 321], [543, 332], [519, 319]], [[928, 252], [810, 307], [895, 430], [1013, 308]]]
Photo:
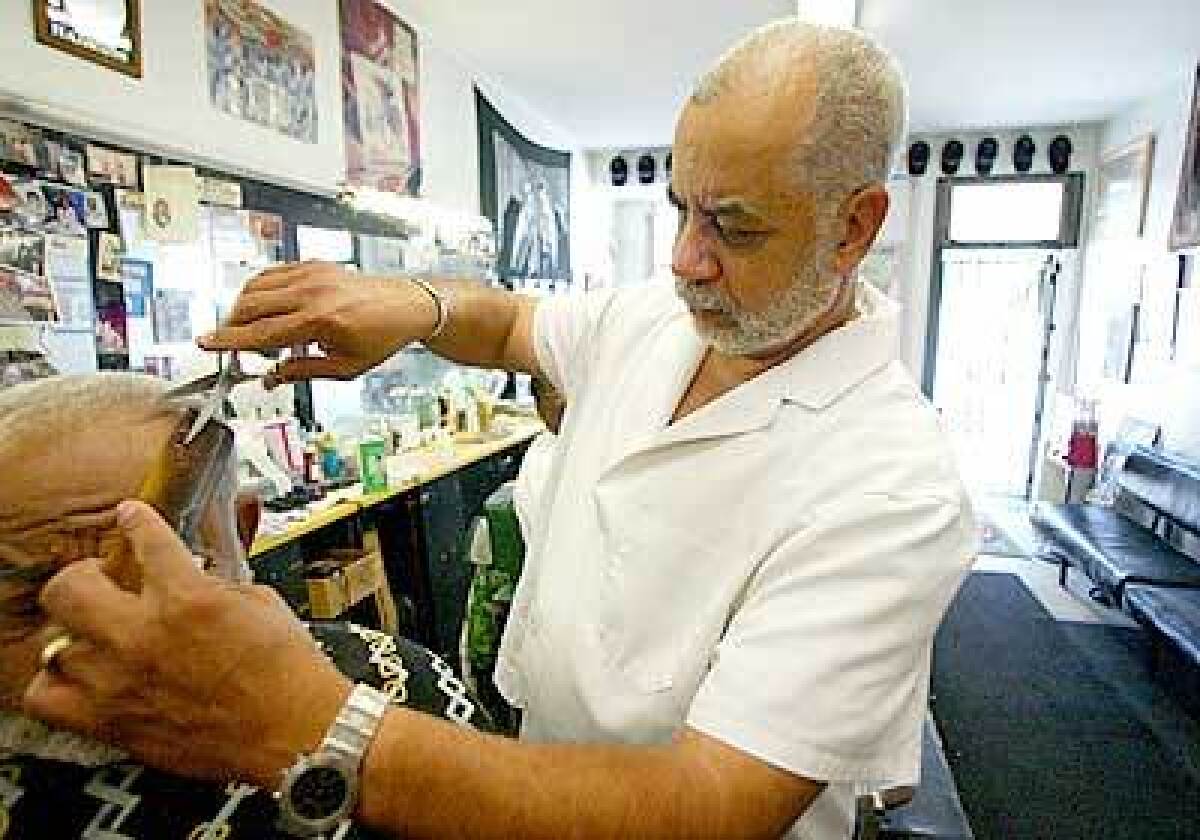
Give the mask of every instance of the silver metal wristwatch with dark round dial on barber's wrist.
[[320, 746], [283, 773], [276, 794], [280, 829], [314, 838], [350, 818], [359, 799], [359, 775], [367, 745], [388, 710], [388, 695], [370, 685], [354, 686]]

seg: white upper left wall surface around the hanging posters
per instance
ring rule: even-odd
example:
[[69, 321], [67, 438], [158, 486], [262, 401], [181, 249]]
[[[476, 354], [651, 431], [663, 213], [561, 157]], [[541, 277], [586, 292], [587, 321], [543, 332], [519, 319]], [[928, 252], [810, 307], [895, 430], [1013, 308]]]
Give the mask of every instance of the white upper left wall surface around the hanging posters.
[[[485, 78], [424, 24], [421, 8], [437, 0], [385, 0], [420, 38], [421, 149], [425, 196], [479, 211], [479, 150], [473, 84], [529, 139], [574, 149], [571, 137], [530, 109], [518, 95]], [[34, 40], [31, 4], [0, 1], [0, 100], [48, 109], [67, 125], [91, 128], [130, 145], [317, 192], [344, 178], [337, 2], [265, 0], [268, 8], [305, 30], [317, 52], [318, 142], [301, 143], [217, 112], [208, 98], [204, 4], [145, 0], [140, 80], [131, 79]]]

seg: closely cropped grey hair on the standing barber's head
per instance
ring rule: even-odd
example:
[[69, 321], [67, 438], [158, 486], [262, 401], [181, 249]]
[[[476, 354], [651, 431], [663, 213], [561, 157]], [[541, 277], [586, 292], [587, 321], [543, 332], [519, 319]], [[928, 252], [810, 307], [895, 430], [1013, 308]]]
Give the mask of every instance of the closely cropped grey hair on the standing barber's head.
[[906, 130], [907, 85], [895, 59], [853, 29], [784, 18], [734, 44], [696, 85], [692, 101], [769, 92], [781, 78], [811, 73], [812, 121], [797, 126], [799, 185], [828, 206], [887, 181]]

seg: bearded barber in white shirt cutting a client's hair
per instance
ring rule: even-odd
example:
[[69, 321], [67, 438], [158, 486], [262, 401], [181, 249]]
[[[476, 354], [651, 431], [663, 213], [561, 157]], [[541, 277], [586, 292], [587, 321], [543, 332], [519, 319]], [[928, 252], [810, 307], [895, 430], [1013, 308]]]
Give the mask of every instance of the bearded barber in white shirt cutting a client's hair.
[[[319, 263], [247, 284], [202, 346], [320, 343], [277, 380], [355, 376], [425, 341], [544, 376], [566, 402], [497, 672], [522, 740], [368, 715], [313, 810], [430, 839], [832, 840], [850, 836], [856, 793], [916, 781], [931, 640], [973, 527], [893, 358], [895, 310], [854, 282], [887, 214], [904, 96], [858, 32], [787, 20], [734, 47], [678, 121], [673, 290], [535, 302]], [[350, 686], [200, 587], [148, 511], [125, 508], [122, 527], [158, 592], [191, 593], [193, 618], [236, 637], [205, 671], [169, 596], [67, 570], [46, 608], [107, 655], [67, 658], [28, 707], [300, 802], [301, 754]], [[158, 629], [134, 643], [104, 620], [118, 616]], [[254, 650], [270, 655], [252, 674], [212, 684]], [[284, 682], [264, 714], [256, 692]], [[210, 746], [241, 731], [259, 738]]]

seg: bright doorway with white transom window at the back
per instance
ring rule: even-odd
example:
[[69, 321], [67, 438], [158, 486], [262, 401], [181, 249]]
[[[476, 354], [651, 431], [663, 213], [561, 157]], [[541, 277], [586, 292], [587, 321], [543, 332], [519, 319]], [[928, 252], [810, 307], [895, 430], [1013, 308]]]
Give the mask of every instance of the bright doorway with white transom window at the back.
[[924, 389], [976, 494], [1028, 499], [1084, 176], [937, 185]]

